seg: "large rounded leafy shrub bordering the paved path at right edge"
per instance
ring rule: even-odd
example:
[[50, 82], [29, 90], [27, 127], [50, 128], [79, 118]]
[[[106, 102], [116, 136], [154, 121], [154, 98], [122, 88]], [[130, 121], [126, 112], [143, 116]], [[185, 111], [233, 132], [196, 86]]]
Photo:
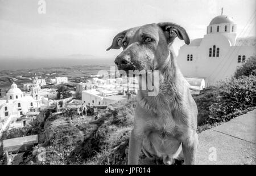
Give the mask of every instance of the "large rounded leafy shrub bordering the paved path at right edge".
[[[223, 81], [217, 102], [210, 105], [209, 122], [225, 122], [256, 106], [256, 76], [240, 76]], [[240, 112], [240, 113], [239, 113]]]

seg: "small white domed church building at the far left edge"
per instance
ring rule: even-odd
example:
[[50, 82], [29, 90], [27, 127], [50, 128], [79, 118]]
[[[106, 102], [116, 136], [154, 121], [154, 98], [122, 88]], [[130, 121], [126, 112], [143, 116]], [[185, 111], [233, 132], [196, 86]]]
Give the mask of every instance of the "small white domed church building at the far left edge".
[[0, 100], [0, 122], [10, 115], [20, 117], [20, 115], [26, 114], [29, 109], [40, 107], [38, 100], [34, 99], [39, 96], [36, 91], [32, 92], [31, 96], [23, 96], [23, 92], [15, 83], [11, 85], [6, 96], [6, 100]]

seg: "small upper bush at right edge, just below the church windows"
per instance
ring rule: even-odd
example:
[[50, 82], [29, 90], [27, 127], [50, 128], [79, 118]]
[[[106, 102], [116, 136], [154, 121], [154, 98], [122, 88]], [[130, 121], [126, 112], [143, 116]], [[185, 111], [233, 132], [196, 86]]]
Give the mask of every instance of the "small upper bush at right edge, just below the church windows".
[[250, 57], [247, 61], [240, 67], [234, 74], [234, 78], [239, 78], [240, 76], [256, 75], [256, 57]]

